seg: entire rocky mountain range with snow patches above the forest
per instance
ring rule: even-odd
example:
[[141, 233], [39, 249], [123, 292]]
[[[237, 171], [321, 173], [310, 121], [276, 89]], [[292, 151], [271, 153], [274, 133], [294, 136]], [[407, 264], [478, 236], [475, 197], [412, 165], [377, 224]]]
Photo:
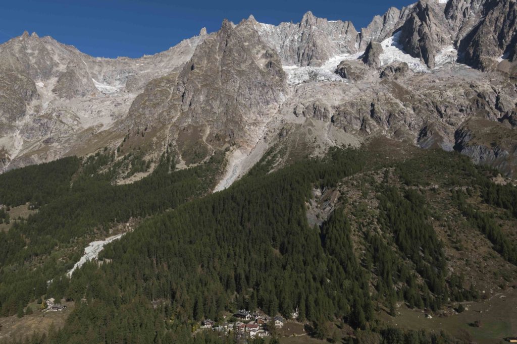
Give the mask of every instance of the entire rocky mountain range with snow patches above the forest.
[[[360, 32], [311, 12], [278, 26], [250, 16], [139, 59], [25, 33], [0, 45], [0, 168], [105, 146], [170, 148], [185, 167], [228, 149], [229, 185], [278, 140], [310, 155], [382, 135], [514, 176], [515, 10], [420, 0]], [[479, 123], [501, 129], [473, 141]]]

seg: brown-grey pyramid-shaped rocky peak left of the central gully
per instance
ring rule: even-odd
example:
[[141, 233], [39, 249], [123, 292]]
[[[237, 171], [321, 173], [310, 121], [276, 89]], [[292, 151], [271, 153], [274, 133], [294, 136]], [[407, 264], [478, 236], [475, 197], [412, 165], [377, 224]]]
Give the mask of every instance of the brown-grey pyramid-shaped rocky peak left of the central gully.
[[177, 77], [147, 86], [130, 108], [127, 130], [169, 125], [180, 151], [256, 142], [257, 127], [288, 91], [280, 58], [259, 38], [256, 25], [253, 18], [235, 27], [225, 20]]

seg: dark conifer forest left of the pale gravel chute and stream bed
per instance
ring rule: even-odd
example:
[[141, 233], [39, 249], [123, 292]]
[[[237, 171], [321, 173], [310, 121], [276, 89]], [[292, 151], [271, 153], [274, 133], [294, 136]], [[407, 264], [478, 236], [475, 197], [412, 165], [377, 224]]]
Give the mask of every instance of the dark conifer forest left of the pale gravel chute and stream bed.
[[[208, 192], [223, 158], [220, 153], [204, 165], [173, 171], [172, 154], [164, 154], [153, 174], [127, 185], [113, 185], [112, 170], [93, 174], [111, 160], [110, 153], [98, 153], [82, 165], [77, 158], [65, 158], [0, 176], [2, 202], [30, 202], [29, 207], [39, 208], [26, 221], [0, 232], [0, 314], [16, 314], [45, 294], [47, 281], [79, 259], [84, 247], [75, 247], [76, 238], [94, 231], [107, 236], [115, 223], [163, 212]], [[64, 257], [56, 256], [58, 250]]]

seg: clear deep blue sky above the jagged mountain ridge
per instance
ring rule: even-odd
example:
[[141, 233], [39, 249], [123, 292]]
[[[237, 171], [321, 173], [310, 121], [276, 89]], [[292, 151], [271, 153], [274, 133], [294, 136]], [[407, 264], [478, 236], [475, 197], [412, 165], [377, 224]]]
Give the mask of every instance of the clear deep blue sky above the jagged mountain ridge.
[[[416, 1], [416, 0], [414, 0]], [[312, 11], [329, 20], [351, 20], [359, 30], [389, 6], [401, 8], [411, 0], [4, 0], [0, 10], [0, 42], [24, 30], [40, 37], [75, 45], [103, 57], [140, 57], [169, 49], [185, 38], [219, 29], [224, 18], [238, 23], [253, 14], [257, 21], [299, 22]]]

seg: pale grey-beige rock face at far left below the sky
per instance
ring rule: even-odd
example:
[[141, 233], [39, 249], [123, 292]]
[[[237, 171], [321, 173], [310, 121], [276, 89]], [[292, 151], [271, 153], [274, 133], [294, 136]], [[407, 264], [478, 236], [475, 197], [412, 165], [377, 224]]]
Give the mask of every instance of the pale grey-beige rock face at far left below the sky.
[[183, 67], [205, 37], [139, 59], [94, 58], [27, 32], [0, 45], [0, 173], [95, 151], [99, 135], [119, 136], [114, 123], [136, 95]]

